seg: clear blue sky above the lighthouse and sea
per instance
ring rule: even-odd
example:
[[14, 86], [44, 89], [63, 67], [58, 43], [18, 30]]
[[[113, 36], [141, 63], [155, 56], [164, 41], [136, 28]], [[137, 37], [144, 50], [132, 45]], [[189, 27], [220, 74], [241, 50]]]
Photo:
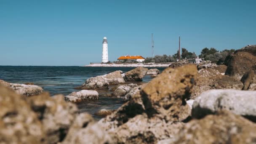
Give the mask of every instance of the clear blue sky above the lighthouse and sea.
[[0, 0], [0, 65], [83, 66], [256, 44], [256, 0]]

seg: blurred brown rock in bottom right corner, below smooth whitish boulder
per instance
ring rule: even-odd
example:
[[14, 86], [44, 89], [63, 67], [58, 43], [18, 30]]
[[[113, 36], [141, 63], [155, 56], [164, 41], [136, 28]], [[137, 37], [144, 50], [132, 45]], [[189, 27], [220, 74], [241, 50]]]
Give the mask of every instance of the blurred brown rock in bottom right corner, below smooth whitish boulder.
[[207, 115], [186, 123], [172, 144], [252, 144], [256, 139], [256, 125], [230, 112]]

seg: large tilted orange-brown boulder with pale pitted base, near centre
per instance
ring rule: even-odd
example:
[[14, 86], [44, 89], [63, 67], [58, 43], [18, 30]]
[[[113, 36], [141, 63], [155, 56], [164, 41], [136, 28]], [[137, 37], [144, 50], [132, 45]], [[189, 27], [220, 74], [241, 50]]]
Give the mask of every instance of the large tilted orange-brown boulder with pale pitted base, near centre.
[[196, 79], [193, 64], [167, 68], [99, 124], [115, 143], [156, 143], [173, 137], [190, 115], [186, 99]]

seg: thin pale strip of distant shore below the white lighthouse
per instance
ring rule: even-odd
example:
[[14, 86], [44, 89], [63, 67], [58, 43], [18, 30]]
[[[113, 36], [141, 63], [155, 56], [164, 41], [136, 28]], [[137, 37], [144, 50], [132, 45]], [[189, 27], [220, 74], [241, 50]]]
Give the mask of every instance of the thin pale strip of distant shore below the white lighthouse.
[[88, 64], [84, 67], [169, 67], [170, 64]]

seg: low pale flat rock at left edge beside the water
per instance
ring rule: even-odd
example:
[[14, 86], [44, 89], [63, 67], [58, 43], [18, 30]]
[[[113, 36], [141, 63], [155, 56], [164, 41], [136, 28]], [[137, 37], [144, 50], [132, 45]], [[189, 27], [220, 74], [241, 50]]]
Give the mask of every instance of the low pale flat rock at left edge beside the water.
[[0, 84], [4, 85], [5, 87], [11, 88], [13, 91], [23, 96], [33, 96], [43, 92], [43, 88], [37, 85], [8, 83], [8, 82], [5, 82], [4, 80], [0, 80]]

